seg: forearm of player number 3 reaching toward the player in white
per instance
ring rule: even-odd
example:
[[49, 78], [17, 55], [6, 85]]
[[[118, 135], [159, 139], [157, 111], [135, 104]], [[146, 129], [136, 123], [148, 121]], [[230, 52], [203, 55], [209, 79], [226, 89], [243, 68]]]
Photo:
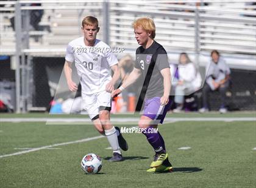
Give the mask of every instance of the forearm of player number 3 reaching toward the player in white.
[[130, 86], [133, 82], [135, 82], [141, 75], [141, 70], [137, 68], [133, 68], [132, 72], [129, 76], [127, 76], [126, 80], [123, 82], [122, 86], [118, 89], [114, 90], [112, 93], [112, 97], [121, 93], [126, 87]]

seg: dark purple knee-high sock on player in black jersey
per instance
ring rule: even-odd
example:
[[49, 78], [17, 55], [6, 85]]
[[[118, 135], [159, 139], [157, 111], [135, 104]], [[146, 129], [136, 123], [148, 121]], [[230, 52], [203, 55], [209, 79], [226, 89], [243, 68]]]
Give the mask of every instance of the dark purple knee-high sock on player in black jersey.
[[149, 144], [154, 148], [155, 153], [165, 152], [165, 143], [160, 133], [151, 133], [149, 129], [154, 129], [154, 127], [148, 127], [143, 131], [143, 134], [147, 137]]

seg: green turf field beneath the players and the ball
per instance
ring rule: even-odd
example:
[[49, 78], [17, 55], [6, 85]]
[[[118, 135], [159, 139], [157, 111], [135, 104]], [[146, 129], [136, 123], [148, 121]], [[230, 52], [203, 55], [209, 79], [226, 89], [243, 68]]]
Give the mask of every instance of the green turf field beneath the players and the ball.
[[[1, 115], [1, 118], [45, 116], [56, 117], [28, 114]], [[225, 115], [186, 113], [168, 117], [255, 117], [255, 112]], [[106, 149], [109, 147], [106, 138], [1, 157], [26, 151], [24, 148], [34, 149], [99, 136], [90, 125], [1, 123], [0, 187], [255, 187], [255, 121], [179, 121], [160, 126], [159, 130], [174, 166], [172, 173], [146, 172], [154, 152], [145, 136], [136, 133], [124, 134], [129, 150], [123, 152], [126, 160], [121, 163], [106, 160], [112, 155], [112, 151]], [[180, 147], [191, 149], [179, 150]], [[86, 175], [82, 172], [80, 160], [87, 153], [102, 156], [101, 173]]]

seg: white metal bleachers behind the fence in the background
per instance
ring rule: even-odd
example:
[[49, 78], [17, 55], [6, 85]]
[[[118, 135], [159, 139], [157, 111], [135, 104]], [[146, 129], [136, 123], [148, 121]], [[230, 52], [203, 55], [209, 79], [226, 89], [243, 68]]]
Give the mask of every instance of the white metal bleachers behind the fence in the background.
[[[0, 12], [10, 11], [0, 16], [2, 55], [15, 53], [15, 33], [10, 27], [15, 2], [7, 2], [9, 5], [0, 8]], [[255, 5], [249, 5], [248, 1], [204, 1], [207, 6], [196, 7], [197, 1], [179, 1], [185, 4], [168, 2], [110, 1], [109, 30], [105, 30], [103, 22], [107, 18], [102, 13], [102, 1], [43, 1], [40, 8], [44, 9], [44, 15], [40, 25], [44, 30], [30, 30], [29, 49], [31, 52], [40, 52], [42, 49], [42, 55], [46, 55], [46, 49], [63, 49], [56, 51], [63, 55], [68, 42], [81, 35], [80, 22], [85, 15], [99, 18], [99, 38], [103, 39], [104, 32], [108, 32], [110, 45], [135, 49], [138, 45], [131, 23], [140, 16], [151, 16], [157, 27], [156, 39], [169, 52], [196, 52], [195, 43], [199, 42], [199, 52], [218, 49], [224, 53], [256, 54], [255, 18], [244, 16], [256, 16], [256, 11], [252, 10], [256, 8]], [[26, 4], [22, 11], [29, 8], [29, 4]], [[30, 52], [29, 49], [25, 51]]]

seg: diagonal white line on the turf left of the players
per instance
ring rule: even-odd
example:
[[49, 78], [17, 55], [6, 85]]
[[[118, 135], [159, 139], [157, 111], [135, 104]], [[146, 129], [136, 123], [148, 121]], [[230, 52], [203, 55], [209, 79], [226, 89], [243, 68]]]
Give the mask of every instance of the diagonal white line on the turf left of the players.
[[68, 144], [76, 144], [76, 143], [85, 143], [85, 142], [88, 142], [88, 141], [91, 141], [91, 140], [94, 140], [94, 139], [99, 139], [99, 138], [104, 138], [104, 137], [105, 136], [102, 136], [102, 135], [101, 136], [94, 136], [94, 137], [91, 137], [91, 138], [78, 139], [76, 141], [70, 141], [70, 142], [66, 142], [66, 143], [59, 143], [59, 144], [52, 144], [52, 145], [49, 145], [49, 146], [37, 147], [37, 148], [34, 148], [34, 149], [29, 149], [29, 150], [26, 150], [26, 151], [22, 151], [22, 152], [10, 153], [10, 154], [7, 154], [7, 155], [0, 155], [0, 158], [4, 158], [4, 157], [7, 157], [7, 156], [14, 156], [14, 155], [22, 155], [22, 154], [25, 154], [25, 153], [35, 152], [35, 151], [42, 150], [42, 149], [48, 149], [49, 147], [65, 146], [65, 145], [68, 145]]

